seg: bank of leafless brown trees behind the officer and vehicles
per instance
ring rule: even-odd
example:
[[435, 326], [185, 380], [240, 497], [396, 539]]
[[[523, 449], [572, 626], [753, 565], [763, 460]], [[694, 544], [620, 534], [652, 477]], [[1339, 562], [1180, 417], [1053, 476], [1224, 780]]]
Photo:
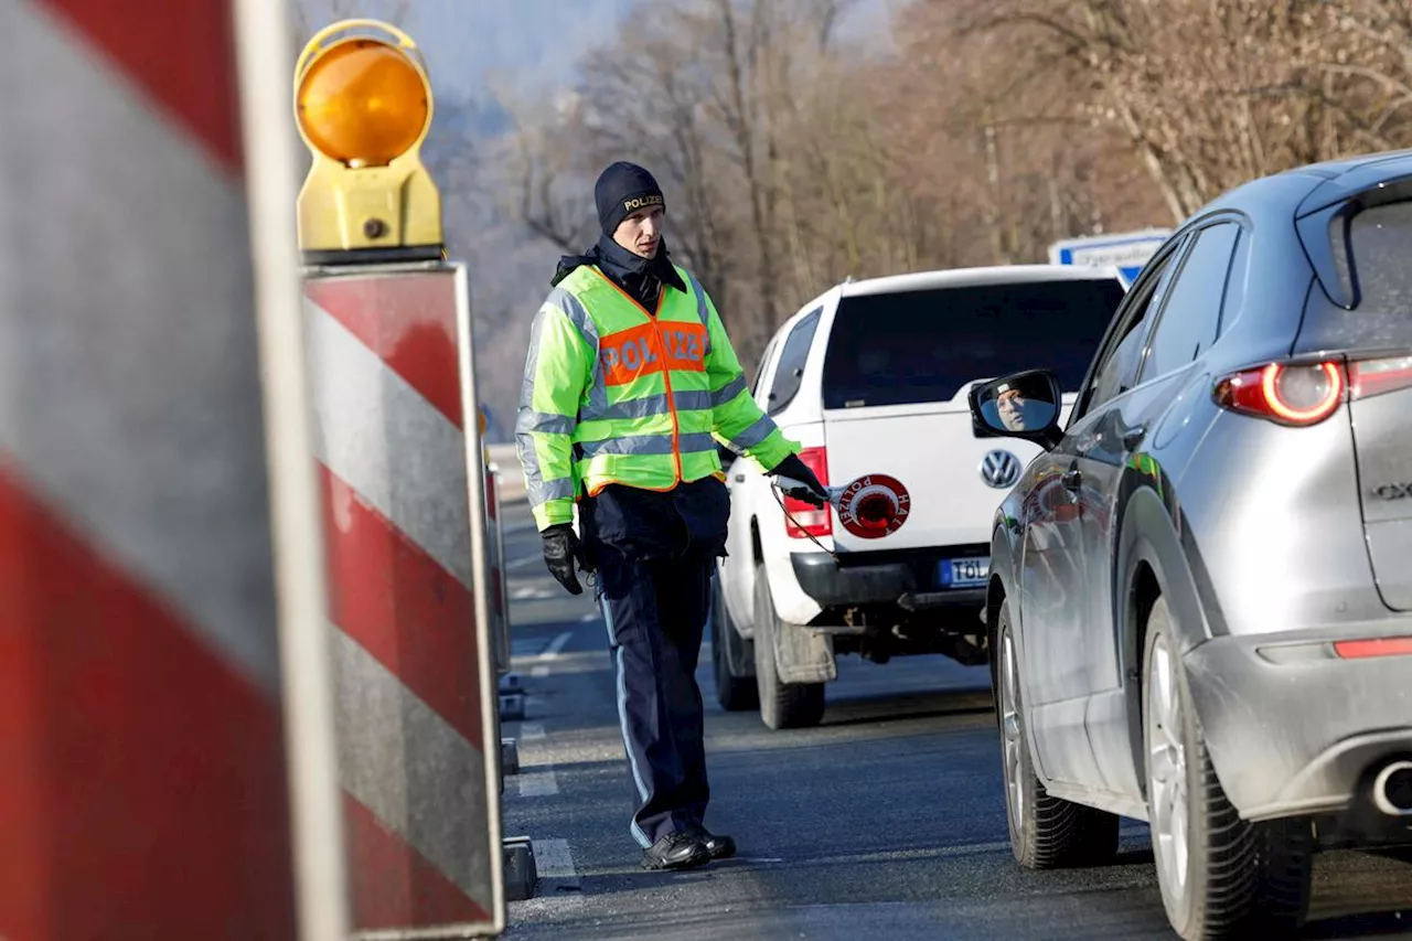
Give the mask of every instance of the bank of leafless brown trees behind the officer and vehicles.
[[572, 106], [517, 112], [517, 218], [582, 247], [596, 172], [647, 164], [674, 254], [754, 359], [846, 277], [1038, 261], [1412, 143], [1401, 0], [912, 0], [894, 58], [839, 41], [849, 6], [651, 0], [585, 57]]

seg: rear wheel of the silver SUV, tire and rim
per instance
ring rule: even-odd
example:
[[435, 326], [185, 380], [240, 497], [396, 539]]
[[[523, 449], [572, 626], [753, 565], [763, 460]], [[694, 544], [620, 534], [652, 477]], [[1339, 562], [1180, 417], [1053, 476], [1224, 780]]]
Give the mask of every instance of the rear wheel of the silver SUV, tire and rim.
[[1313, 829], [1300, 818], [1240, 818], [1216, 777], [1176, 651], [1159, 598], [1142, 650], [1142, 752], [1168, 921], [1187, 941], [1292, 934], [1309, 909]]

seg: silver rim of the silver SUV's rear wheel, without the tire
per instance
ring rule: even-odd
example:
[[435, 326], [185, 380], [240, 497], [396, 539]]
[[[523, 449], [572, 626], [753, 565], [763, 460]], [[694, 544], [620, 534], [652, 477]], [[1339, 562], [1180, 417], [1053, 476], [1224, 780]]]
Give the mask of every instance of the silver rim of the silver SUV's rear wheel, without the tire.
[[1182, 698], [1176, 685], [1176, 660], [1166, 637], [1152, 643], [1147, 684], [1148, 804], [1156, 865], [1173, 900], [1186, 897], [1189, 860], [1189, 801], [1186, 747], [1182, 743]]

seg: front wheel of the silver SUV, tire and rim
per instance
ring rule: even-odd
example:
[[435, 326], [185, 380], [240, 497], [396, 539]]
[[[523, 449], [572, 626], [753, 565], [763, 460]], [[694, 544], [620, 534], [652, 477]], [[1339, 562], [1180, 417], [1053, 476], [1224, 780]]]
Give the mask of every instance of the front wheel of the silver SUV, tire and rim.
[[993, 682], [1005, 787], [1005, 822], [1015, 862], [1025, 869], [1103, 866], [1113, 862], [1118, 852], [1117, 814], [1053, 797], [1035, 774], [1008, 600], [1000, 605], [991, 650], [995, 651]]

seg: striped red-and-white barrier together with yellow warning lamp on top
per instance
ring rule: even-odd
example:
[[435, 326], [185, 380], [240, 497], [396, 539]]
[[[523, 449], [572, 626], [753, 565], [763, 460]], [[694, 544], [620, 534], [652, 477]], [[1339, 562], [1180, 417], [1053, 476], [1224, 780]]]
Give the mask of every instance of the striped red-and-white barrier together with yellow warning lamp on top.
[[466, 268], [419, 157], [432, 85], [376, 20], [316, 32], [294, 85], [353, 927], [500, 934], [525, 866], [500, 836], [490, 495]]

